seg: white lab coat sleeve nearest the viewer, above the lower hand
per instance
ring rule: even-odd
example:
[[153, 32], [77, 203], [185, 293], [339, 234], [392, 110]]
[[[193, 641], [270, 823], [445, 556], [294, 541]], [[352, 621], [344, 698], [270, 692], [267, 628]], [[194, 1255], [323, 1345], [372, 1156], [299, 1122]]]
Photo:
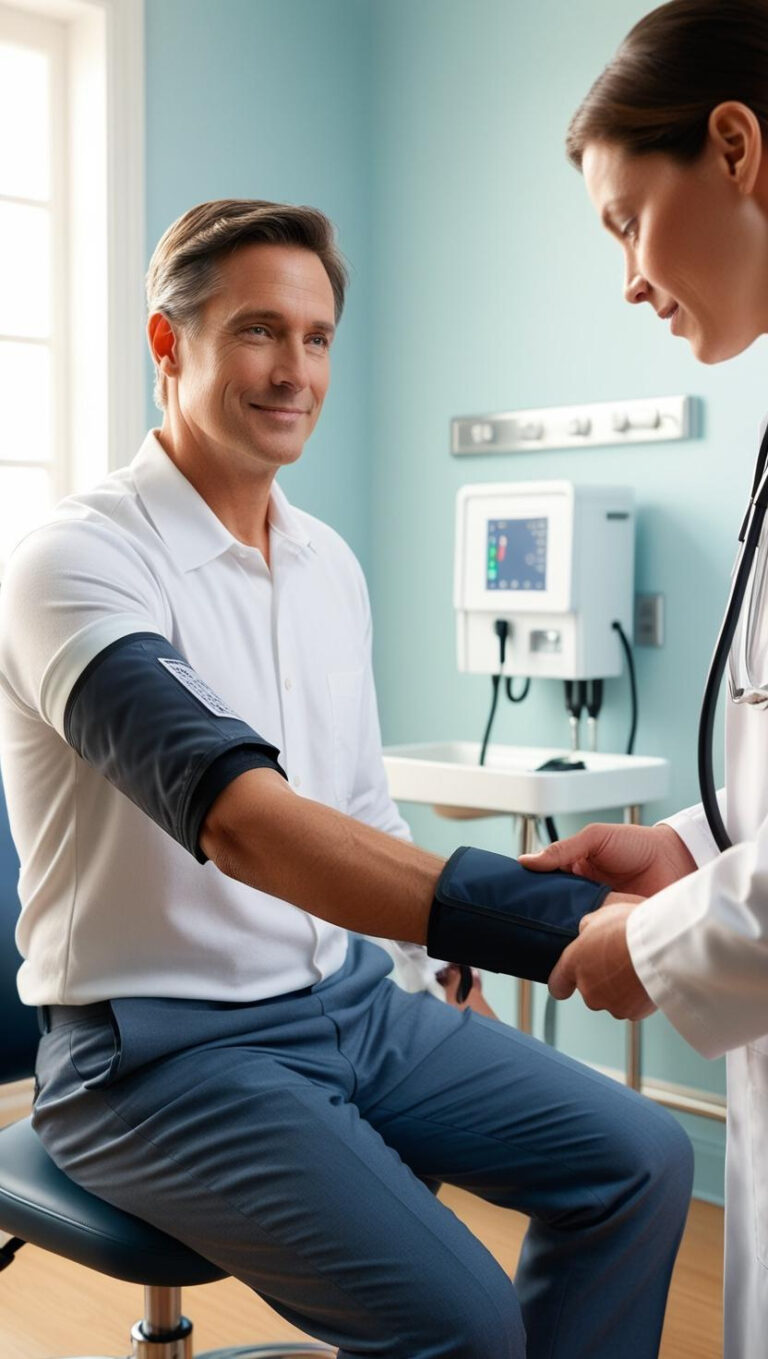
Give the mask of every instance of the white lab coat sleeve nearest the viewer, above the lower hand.
[[768, 1033], [768, 818], [638, 906], [627, 942], [651, 1000], [704, 1057]]

